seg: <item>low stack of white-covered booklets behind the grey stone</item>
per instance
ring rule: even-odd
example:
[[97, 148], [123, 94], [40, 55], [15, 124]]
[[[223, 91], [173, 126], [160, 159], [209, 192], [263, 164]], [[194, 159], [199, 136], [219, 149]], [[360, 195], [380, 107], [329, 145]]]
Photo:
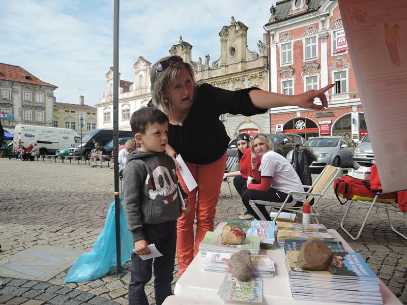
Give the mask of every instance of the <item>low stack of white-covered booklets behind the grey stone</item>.
[[[203, 269], [205, 271], [215, 272], [228, 272], [230, 253], [213, 253], [208, 252], [203, 262]], [[274, 262], [267, 255], [252, 255], [251, 260], [253, 263], [253, 276], [272, 278], [274, 277]]]

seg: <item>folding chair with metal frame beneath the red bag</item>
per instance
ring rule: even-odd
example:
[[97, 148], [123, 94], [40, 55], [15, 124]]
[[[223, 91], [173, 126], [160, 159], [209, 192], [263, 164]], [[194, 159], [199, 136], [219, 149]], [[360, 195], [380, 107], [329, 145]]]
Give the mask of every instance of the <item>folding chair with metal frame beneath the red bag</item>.
[[[341, 227], [342, 230], [343, 230], [347, 235], [349, 235], [349, 237], [351, 237], [353, 240], [358, 239], [358, 238], [360, 237], [360, 235], [362, 234], [362, 231], [363, 231], [363, 229], [364, 229], [364, 227], [365, 227], [365, 225], [366, 225], [367, 219], [368, 219], [369, 216], [370, 216], [370, 213], [371, 213], [371, 211], [372, 211], [372, 208], [373, 208], [373, 207], [376, 207], [377, 209], [384, 209], [384, 210], [386, 210], [387, 218], [388, 218], [388, 220], [389, 220], [389, 225], [390, 225], [390, 228], [393, 230], [393, 232], [397, 233], [398, 235], [400, 235], [400, 236], [403, 237], [404, 239], [407, 239], [407, 236], [401, 234], [399, 231], [397, 231], [397, 230], [393, 227], [393, 223], [391, 222], [391, 219], [390, 219], [389, 211], [394, 211], [394, 212], [400, 212], [400, 213], [401, 213], [400, 209], [399, 209], [398, 206], [397, 206], [397, 203], [379, 202], [379, 201], [381, 200], [380, 198], [378, 198], [379, 195], [380, 195], [380, 194], [377, 194], [376, 196], [374, 196], [374, 198], [373, 198], [373, 200], [372, 200], [371, 202], [370, 202], [370, 201], [363, 201], [363, 200], [351, 200], [351, 202], [349, 203], [349, 205], [348, 205], [348, 207], [347, 207], [347, 209], [346, 209], [346, 211], [345, 211], [345, 214], [343, 215], [342, 221], [340, 222], [340, 227]], [[395, 193], [394, 196], [396, 197], [396, 193]], [[359, 230], [359, 232], [358, 232], [358, 235], [356, 235], [356, 237], [354, 237], [350, 232], [348, 232], [348, 231], [344, 228], [344, 226], [343, 226], [343, 222], [344, 222], [344, 220], [345, 220], [345, 218], [346, 218], [346, 216], [347, 216], [349, 210], [351, 209], [351, 206], [352, 206], [353, 203], [360, 203], [360, 204], [364, 204], [364, 205], [370, 206], [370, 207], [369, 207], [369, 210], [367, 211], [367, 214], [366, 214], [366, 216], [365, 216], [365, 219], [363, 220], [362, 226], [360, 227], [360, 230]], [[405, 220], [405, 226], [407, 227], [407, 213], [403, 213], [403, 216], [404, 216], [404, 220]]]

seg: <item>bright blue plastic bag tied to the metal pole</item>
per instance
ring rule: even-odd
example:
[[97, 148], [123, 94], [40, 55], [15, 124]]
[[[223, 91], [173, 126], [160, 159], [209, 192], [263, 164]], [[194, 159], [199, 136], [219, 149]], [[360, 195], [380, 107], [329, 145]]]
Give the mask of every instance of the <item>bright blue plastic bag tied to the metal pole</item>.
[[[120, 198], [120, 240], [122, 265], [126, 263], [134, 249], [133, 238], [127, 229], [125, 211]], [[109, 269], [117, 265], [114, 201], [107, 212], [105, 226], [93, 244], [93, 251], [84, 253], [72, 265], [64, 284], [85, 282], [99, 279]]]

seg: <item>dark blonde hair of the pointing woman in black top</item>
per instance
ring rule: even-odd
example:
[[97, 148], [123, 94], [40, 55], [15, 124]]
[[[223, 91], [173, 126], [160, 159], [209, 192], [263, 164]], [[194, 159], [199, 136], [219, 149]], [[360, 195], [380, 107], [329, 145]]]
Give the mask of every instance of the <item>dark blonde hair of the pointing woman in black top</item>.
[[164, 102], [164, 94], [166, 90], [168, 90], [169, 85], [178, 79], [182, 69], [186, 69], [188, 71], [189, 75], [191, 76], [192, 83], [196, 88], [194, 71], [192, 70], [191, 65], [188, 63], [170, 63], [168, 68], [164, 71], [159, 72], [156, 70], [157, 64], [163, 60], [168, 60], [169, 57], [171, 56], [165, 56], [157, 60], [150, 70], [151, 95], [154, 106], [163, 111], [166, 115], [172, 113], [172, 106], [171, 102]]

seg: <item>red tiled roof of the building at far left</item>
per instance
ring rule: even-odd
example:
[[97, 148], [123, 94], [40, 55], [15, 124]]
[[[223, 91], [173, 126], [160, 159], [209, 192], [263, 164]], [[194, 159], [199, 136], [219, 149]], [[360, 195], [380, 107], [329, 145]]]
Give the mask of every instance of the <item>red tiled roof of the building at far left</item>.
[[40, 85], [51, 88], [57, 88], [53, 84], [42, 81], [30, 72], [27, 72], [19, 66], [0, 63], [0, 80], [16, 81], [24, 84]]

